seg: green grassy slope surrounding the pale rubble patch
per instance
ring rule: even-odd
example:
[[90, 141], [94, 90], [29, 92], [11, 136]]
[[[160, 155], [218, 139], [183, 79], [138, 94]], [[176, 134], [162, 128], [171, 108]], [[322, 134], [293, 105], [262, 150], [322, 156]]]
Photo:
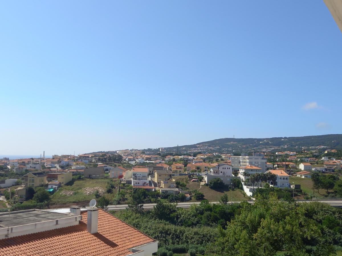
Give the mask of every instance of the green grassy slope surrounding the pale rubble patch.
[[[95, 195], [84, 195], [82, 189], [86, 187], [102, 187], [106, 191], [107, 183], [111, 179], [101, 178], [101, 179], [82, 179], [75, 180], [71, 185], [62, 186], [56, 193], [51, 196], [51, 206], [55, 204], [70, 204], [70, 203], [78, 203], [78, 204], [87, 204], [91, 199], [95, 199]], [[119, 181], [114, 180], [115, 186], [117, 186]], [[63, 191], [71, 190], [75, 191], [74, 195], [67, 196], [61, 195]], [[115, 193], [116, 190], [113, 191]]]

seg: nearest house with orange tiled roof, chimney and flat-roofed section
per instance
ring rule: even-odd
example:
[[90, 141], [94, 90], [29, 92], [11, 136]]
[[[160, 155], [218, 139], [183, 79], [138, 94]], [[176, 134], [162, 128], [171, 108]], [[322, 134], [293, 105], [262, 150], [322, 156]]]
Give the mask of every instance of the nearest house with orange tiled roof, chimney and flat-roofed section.
[[149, 256], [158, 250], [158, 241], [102, 209], [70, 212], [11, 212], [0, 227], [0, 255]]

